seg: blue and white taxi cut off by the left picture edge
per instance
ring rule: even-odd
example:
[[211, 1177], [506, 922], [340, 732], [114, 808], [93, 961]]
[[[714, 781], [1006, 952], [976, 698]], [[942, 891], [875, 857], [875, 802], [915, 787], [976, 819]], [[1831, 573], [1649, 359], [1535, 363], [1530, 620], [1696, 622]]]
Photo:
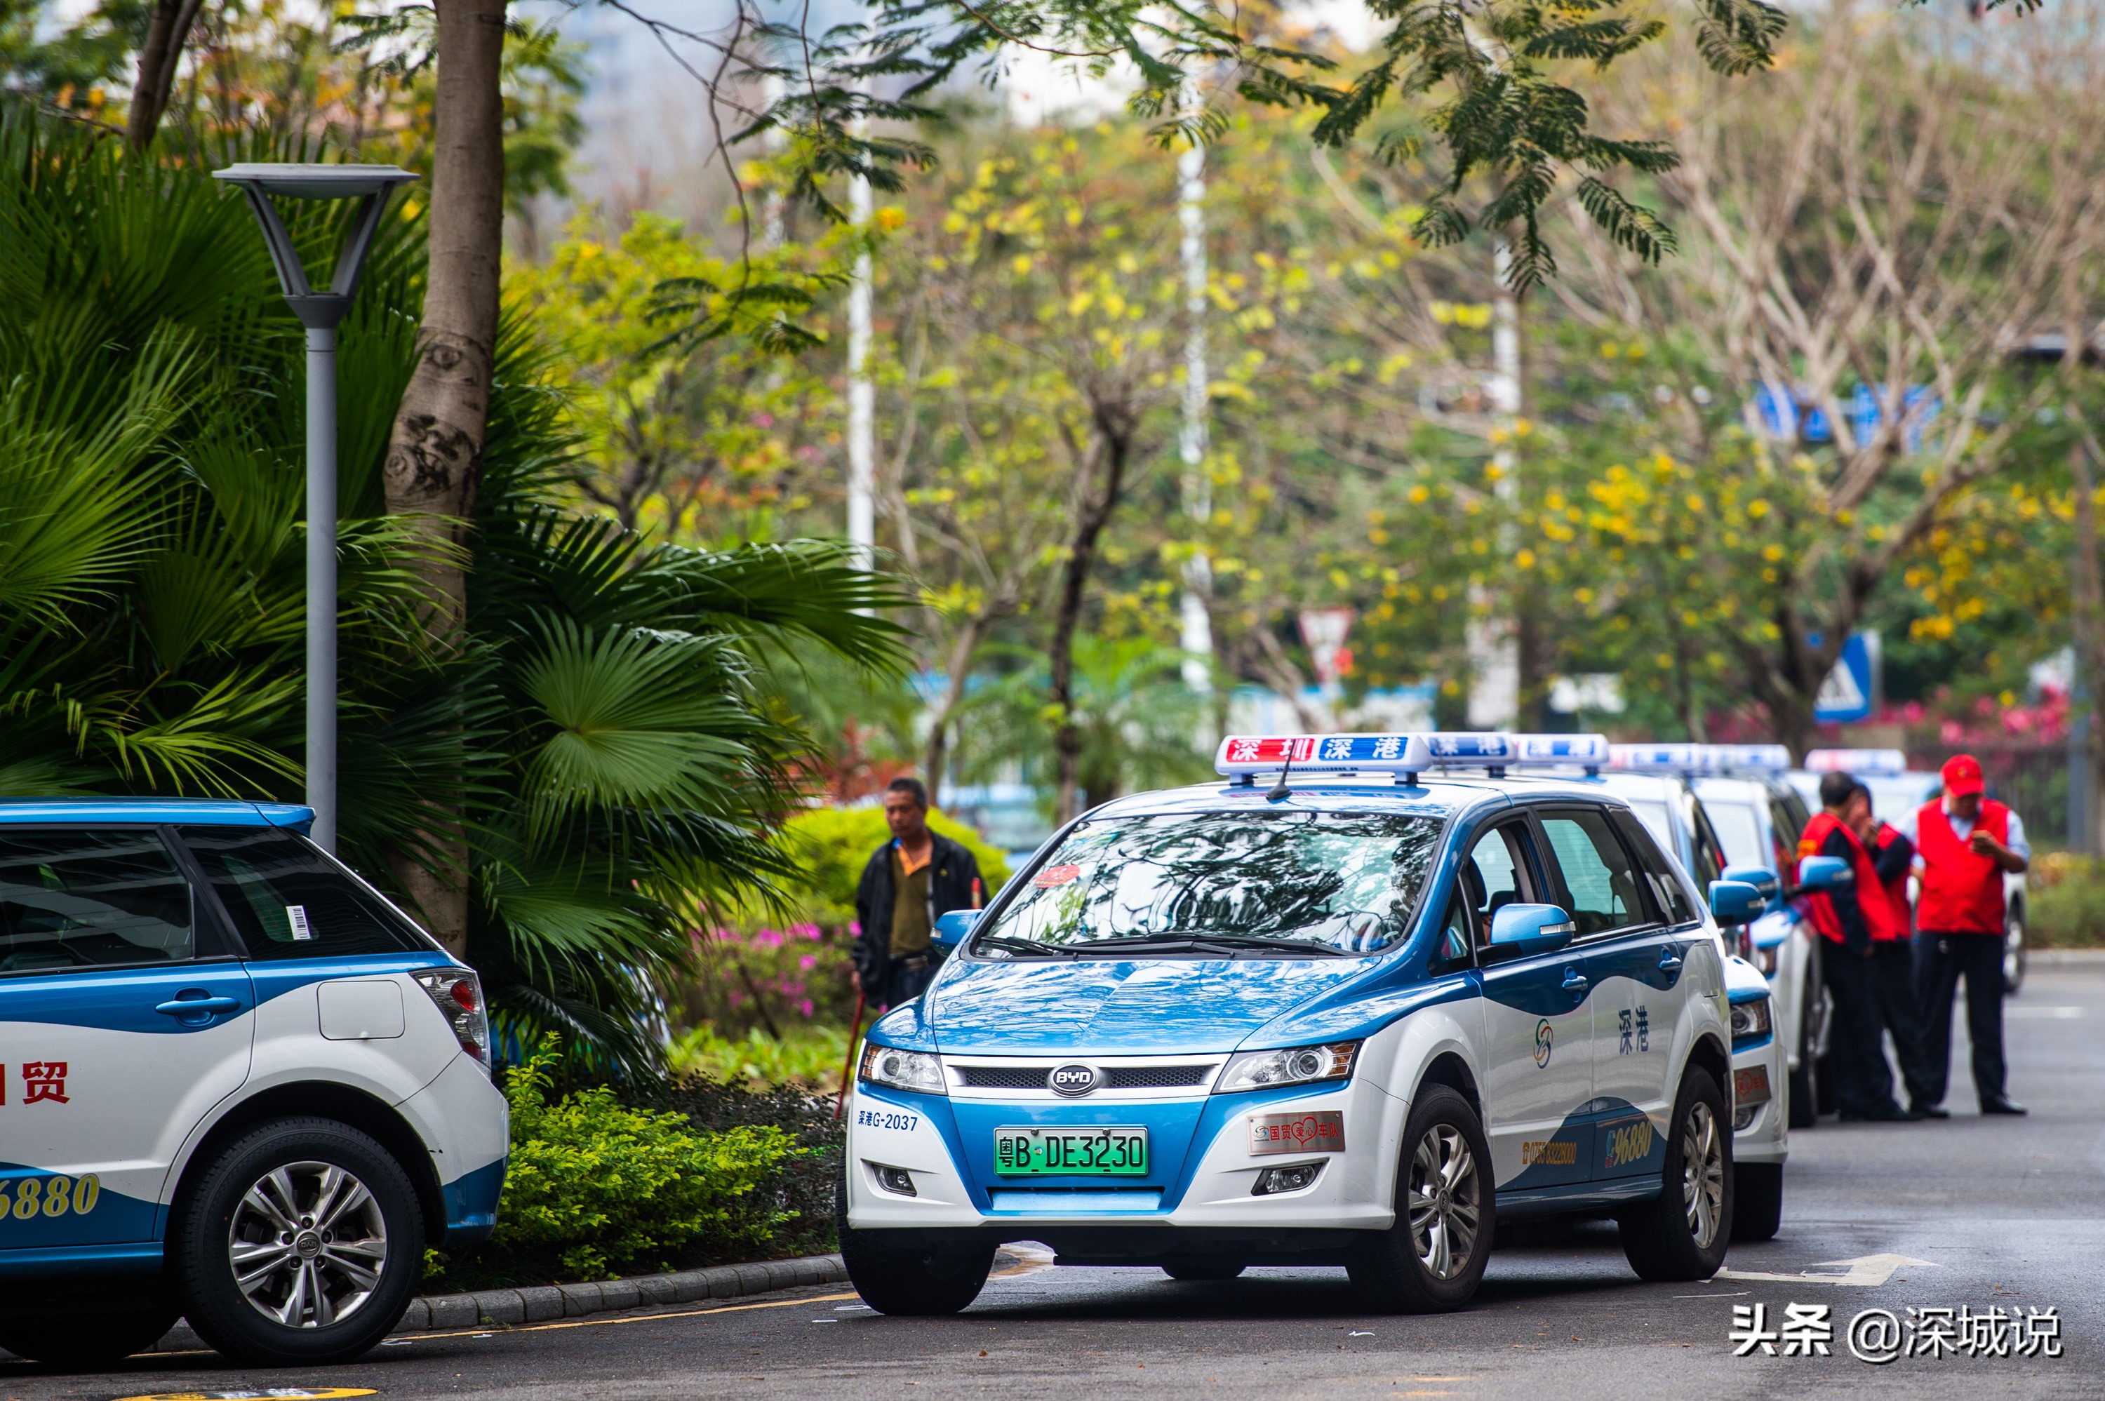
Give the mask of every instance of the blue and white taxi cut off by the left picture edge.
[[476, 974], [309, 808], [0, 801], [0, 1346], [354, 1357], [505, 1174]]

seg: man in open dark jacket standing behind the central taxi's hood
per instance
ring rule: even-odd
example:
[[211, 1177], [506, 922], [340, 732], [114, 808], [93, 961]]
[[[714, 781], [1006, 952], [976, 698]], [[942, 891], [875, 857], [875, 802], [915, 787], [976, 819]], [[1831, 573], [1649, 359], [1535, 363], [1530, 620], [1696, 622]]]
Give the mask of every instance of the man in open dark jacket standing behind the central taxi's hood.
[[855, 987], [882, 1008], [914, 1001], [941, 955], [930, 947], [939, 915], [979, 909], [979, 862], [949, 837], [928, 831], [928, 789], [893, 778], [884, 789], [890, 841], [880, 846], [855, 888]]

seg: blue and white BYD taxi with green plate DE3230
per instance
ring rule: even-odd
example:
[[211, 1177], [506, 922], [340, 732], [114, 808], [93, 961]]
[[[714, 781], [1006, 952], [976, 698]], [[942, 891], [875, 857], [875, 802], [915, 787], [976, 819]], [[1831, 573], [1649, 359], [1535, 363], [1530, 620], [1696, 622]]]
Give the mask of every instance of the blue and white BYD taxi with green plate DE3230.
[[[1646, 1279], [1732, 1222], [1718, 921], [1596, 774], [1602, 736], [1229, 736], [1105, 804], [871, 1027], [842, 1254], [954, 1313], [994, 1247], [1229, 1279], [1343, 1264], [1455, 1308], [1497, 1218], [1608, 1214]], [[1564, 772], [1558, 772], [1564, 770]], [[1760, 907], [1720, 881], [1728, 917]]]

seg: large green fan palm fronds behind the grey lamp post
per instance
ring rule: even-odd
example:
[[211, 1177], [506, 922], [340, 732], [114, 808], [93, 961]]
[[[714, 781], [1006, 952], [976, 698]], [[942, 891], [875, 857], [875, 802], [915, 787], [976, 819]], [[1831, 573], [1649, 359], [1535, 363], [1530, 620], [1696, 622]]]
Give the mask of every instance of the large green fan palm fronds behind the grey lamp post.
[[[341, 212], [286, 215], [318, 261], [337, 246]], [[465, 808], [499, 1020], [648, 1062], [699, 911], [789, 871], [808, 740], [760, 654], [893, 669], [901, 597], [827, 543], [695, 551], [575, 513], [556, 358], [512, 316], [467, 639], [436, 646], [432, 536], [379, 473], [419, 240], [387, 225], [341, 341], [339, 844], [398, 888], [436, 860], [404, 844], [419, 810]], [[303, 370], [274, 286], [206, 166], [0, 111], [0, 791], [297, 799]]]

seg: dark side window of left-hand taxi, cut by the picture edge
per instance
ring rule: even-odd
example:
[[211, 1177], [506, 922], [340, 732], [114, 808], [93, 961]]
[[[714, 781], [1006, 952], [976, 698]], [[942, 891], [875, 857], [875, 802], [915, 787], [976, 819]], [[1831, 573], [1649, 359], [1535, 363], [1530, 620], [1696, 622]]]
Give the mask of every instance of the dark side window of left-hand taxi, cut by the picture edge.
[[196, 955], [189, 881], [152, 829], [0, 833], [0, 972]]

